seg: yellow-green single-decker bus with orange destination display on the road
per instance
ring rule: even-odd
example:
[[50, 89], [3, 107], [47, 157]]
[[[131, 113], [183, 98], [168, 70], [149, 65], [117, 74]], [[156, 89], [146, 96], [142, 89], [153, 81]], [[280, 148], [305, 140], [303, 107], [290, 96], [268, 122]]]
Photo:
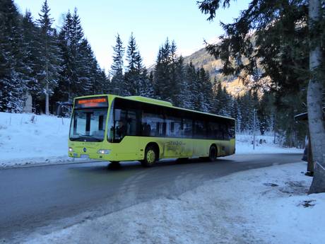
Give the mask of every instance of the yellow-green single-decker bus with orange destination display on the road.
[[162, 158], [217, 157], [235, 153], [235, 120], [174, 107], [141, 96], [75, 98], [69, 156], [112, 163]]

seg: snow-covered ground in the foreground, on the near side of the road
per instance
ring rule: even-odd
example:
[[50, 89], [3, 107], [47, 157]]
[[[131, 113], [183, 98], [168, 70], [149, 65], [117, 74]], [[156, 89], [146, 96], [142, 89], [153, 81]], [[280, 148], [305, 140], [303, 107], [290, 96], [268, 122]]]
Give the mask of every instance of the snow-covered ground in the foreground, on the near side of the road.
[[34, 233], [26, 243], [324, 243], [325, 194], [306, 194], [305, 169], [291, 163], [235, 173], [178, 197]]

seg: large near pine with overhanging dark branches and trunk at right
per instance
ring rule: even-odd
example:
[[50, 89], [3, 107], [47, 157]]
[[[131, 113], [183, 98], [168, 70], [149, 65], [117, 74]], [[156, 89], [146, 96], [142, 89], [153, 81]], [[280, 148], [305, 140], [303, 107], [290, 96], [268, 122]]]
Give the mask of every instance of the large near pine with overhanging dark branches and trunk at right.
[[[229, 5], [229, 0], [199, 2], [210, 21], [220, 6]], [[224, 74], [244, 71], [247, 83], [253, 78], [255, 86], [269, 77], [276, 98], [307, 91], [310, 142], [318, 165], [309, 193], [325, 192], [324, 9], [321, 0], [251, 1], [235, 23], [223, 24], [221, 42], [208, 46], [208, 52], [224, 62]]]

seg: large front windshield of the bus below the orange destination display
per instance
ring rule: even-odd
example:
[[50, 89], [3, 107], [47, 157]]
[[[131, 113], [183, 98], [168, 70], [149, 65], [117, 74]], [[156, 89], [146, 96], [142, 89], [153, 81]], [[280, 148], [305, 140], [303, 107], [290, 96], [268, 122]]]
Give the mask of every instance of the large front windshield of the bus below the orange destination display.
[[74, 110], [70, 127], [71, 141], [103, 141], [107, 108]]

